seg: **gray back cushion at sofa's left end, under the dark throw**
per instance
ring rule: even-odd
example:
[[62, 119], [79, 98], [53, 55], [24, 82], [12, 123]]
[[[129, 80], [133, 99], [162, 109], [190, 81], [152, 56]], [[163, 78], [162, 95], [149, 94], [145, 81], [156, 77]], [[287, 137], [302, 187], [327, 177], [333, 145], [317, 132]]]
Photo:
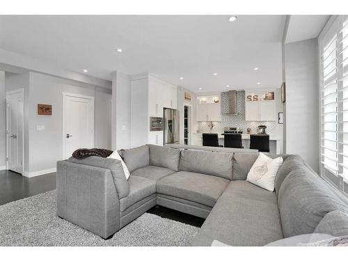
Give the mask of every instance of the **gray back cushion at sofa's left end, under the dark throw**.
[[70, 157], [68, 161], [76, 164], [84, 164], [88, 166], [109, 169], [113, 178], [113, 184], [115, 184], [116, 187], [118, 198], [125, 198], [125, 196], [128, 195], [128, 182], [125, 177], [125, 172], [123, 171], [120, 160], [91, 156], [84, 159], [76, 159], [74, 157]]

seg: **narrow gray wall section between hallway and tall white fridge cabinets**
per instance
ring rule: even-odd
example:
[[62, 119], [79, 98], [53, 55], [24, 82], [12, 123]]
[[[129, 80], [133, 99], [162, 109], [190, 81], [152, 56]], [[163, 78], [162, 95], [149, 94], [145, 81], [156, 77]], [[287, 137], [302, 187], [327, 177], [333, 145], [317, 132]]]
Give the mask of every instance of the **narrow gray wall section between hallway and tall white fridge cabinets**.
[[113, 72], [112, 80], [112, 148], [120, 150], [131, 145], [131, 77]]

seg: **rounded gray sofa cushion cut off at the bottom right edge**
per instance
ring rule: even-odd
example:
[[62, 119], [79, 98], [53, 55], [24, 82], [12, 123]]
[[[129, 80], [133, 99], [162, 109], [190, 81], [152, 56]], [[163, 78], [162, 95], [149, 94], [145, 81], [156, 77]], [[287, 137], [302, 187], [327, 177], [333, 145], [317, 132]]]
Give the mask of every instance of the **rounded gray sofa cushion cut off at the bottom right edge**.
[[329, 234], [335, 237], [348, 235], [348, 215], [334, 210], [324, 216], [314, 233]]

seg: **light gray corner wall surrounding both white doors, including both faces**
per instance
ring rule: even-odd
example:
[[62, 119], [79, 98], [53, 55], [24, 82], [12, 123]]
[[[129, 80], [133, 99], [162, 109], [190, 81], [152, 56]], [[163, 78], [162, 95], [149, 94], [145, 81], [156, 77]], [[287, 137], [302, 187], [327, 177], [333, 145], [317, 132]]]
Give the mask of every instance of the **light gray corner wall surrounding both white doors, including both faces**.
[[[95, 97], [95, 147], [111, 149], [111, 89], [39, 72], [6, 72], [5, 90], [19, 88], [24, 88], [24, 175], [27, 177], [54, 172], [56, 161], [63, 159], [63, 92]], [[0, 99], [1, 95], [0, 84]], [[38, 116], [39, 103], [52, 104], [52, 116]], [[3, 110], [0, 120], [2, 113]], [[45, 130], [38, 131], [38, 125], [44, 125]], [[2, 126], [6, 125], [0, 126], [0, 135]], [[2, 138], [1, 135], [0, 143]], [[6, 143], [6, 136], [4, 139]], [[2, 148], [1, 145], [0, 166]]]

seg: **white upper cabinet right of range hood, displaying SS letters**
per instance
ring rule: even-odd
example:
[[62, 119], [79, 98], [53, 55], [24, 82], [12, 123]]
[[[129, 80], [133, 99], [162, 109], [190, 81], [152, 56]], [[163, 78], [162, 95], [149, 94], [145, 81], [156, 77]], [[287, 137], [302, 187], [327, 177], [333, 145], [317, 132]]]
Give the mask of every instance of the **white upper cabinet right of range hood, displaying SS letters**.
[[274, 91], [258, 91], [245, 93], [245, 120], [276, 120], [276, 102]]

